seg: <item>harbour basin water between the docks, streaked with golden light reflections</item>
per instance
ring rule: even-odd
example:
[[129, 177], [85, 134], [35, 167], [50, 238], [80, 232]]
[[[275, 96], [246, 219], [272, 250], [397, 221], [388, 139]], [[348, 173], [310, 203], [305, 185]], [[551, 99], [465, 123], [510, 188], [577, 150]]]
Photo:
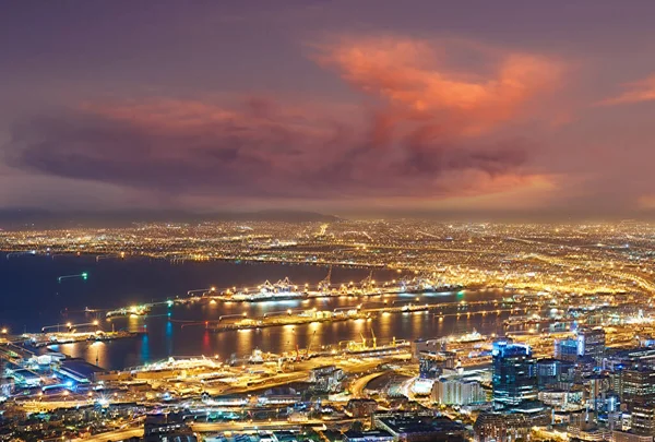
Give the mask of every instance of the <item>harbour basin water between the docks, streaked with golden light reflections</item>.
[[[466, 300], [492, 299], [500, 292], [488, 291], [478, 294], [469, 291]], [[412, 300], [416, 296], [412, 296]], [[388, 304], [393, 299], [389, 297]], [[406, 297], [402, 297], [406, 298]], [[457, 302], [461, 297], [454, 295], [439, 295], [442, 300], [421, 299], [424, 302]], [[366, 300], [367, 308], [384, 306], [382, 300]], [[171, 316], [159, 314], [155, 309], [148, 316], [131, 316], [114, 320], [116, 330], [128, 328], [131, 331], [147, 331], [147, 335], [135, 339], [123, 339], [98, 344], [70, 344], [61, 346], [61, 351], [74, 357], [82, 357], [95, 363], [96, 357], [100, 367], [117, 369], [126, 366], [140, 365], [168, 356], [214, 356], [227, 359], [233, 354], [238, 357], [247, 356], [254, 348], [275, 354], [293, 353], [296, 348], [305, 351], [308, 345], [311, 348], [338, 346], [347, 341], [361, 342], [362, 336], [367, 343], [372, 343], [373, 334], [378, 345], [384, 345], [395, 339], [414, 339], [418, 337], [436, 337], [450, 334], [467, 333], [476, 328], [480, 333], [491, 333], [502, 330], [502, 321], [509, 313], [492, 313], [485, 316], [479, 314], [467, 315], [462, 312], [460, 316], [445, 315], [441, 321], [434, 311], [383, 313], [380, 312], [370, 320], [350, 320], [330, 323], [310, 323], [305, 325], [285, 325], [281, 327], [264, 327], [259, 330], [212, 332], [206, 330], [204, 321], [215, 321], [219, 315], [241, 314], [249, 316], [261, 315], [264, 312], [285, 311], [287, 309], [318, 309], [333, 310], [340, 307], [357, 306], [361, 300], [356, 298], [312, 299], [309, 301], [290, 300], [283, 302], [248, 303], [195, 303], [177, 304], [169, 309]], [[403, 303], [400, 303], [401, 306]], [[180, 322], [178, 322], [180, 321]], [[189, 324], [187, 321], [198, 321]], [[182, 325], [184, 325], [182, 327]], [[371, 332], [372, 331], [372, 332]], [[97, 348], [96, 348], [97, 346]]]

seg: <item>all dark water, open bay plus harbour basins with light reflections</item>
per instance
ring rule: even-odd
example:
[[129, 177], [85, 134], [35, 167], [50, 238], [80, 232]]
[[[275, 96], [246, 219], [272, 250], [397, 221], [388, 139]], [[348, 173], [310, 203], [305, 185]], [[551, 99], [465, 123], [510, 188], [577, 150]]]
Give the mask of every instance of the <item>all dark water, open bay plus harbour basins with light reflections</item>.
[[[164, 300], [176, 296], [186, 296], [190, 287], [218, 287], [223, 282], [237, 286], [255, 285], [265, 279], [277, 280], [289, 276], [296, 283], [317, 283], [326, 273], [325, 267], [288, 266], [288, 265], [250, 265], [231, 263], [186, 263], [171, 265], [168, 262], [148, 260], [102, 260], [93, 256], [49, 258], [33, 256], [26, 260], [0, 260], [0, 277], [8, 292], [15, 296], [3, 299], [0, 320], [12, 330], [40, 330], [46, 324], [88, 322], [98, 319], [103, 328], [110, 331], [130, 330], [147, 331], [147, 335], [138, 338], [105, 342], [79, 343], [59, 346], [59, 351], [73, 357], [85, 358], [92, 363], [117, 369], [158, 360], [168, 356], [219, 355], [228, 358], [231, 354], [248, 355], [259, 347], [264, 351], [281, 354], [294, 351], [296, 346], [303, 349], [311, 343], [312, 348], [326, 345], [338, 345], [344, 341], [361, 341], [364, 335], [369, 342], [372, 331], [378, 345], [396, 339], [414, 339], [417, 337], [434, 337], [452, 333], [471, 332], [474, 327], [480, 333], [499, 332], [502, 320], [508, 313], [486, 316], [463, 314], [439, 316], [430, 313], [380, 313], [370, 322], [344, 321], [332, 323], [313, 323], [288, 327], [269, 327], [250, 332], [215, 333], [205, 330], [204, 321], [216, 321], [225, 314], [242, 314], [258, 316], [287, 309], [334, 310], [366, 303], [367, 307], [381, 307], [384, 301], [389, 306], [415, 301], [416, 295], [374, 296], [367, 299], [354, 297], [320, 298], [309, 300], [285, 300], [278, 302], [259, 302], [253, 304], [239, 302], [203, 302], [195, 304], [176, 304], [168, 309], [165, 306], [154, 308], [146, 318], [121, 318], [106, 322], [104, 313], [86, 316], [84, 307], [118, 308], [134, 303], [148, 302], [152, 299]], [[88, 272], [85, 282], [71, 280], [58, 284], [57, 275]], [[334, 268], [333, 282], [341, 284], [348, 280], [358, 282], [368, 275], [368, 270]], [[377, 270], [376, 279], [398, 277], [395, 273]], [[498, 299], [502, 292], [493, 290], [446, 294], [424, 294], [419, 299], [425, 302], [458, 302], [480, 299]], [[60, 314], [60, 312], [63, 312]], [[171, 316], [168, 318], [170, 312]], [[195, 321], [200, 324], [184, 326], [183, 321]]]

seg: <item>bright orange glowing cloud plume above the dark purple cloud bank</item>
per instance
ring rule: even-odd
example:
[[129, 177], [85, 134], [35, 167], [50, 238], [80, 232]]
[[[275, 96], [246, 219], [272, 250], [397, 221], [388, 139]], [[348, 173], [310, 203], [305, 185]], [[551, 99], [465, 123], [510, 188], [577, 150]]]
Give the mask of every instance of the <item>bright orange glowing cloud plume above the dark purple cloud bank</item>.
[[[320, 46], [317, 59], [384, 99], [395, 114], [439, 120], [461, 134], [478, 134], [515, 118], [531, 98], [558, 85], [563, 71], [560, 62], [545, 57], [507, 53], [493, 60], [490, 74], [462, 74], [437, 49], [443, 48], [408, 38], [346, 39]], [[488, 51], [473, 51], [489, 58]]]

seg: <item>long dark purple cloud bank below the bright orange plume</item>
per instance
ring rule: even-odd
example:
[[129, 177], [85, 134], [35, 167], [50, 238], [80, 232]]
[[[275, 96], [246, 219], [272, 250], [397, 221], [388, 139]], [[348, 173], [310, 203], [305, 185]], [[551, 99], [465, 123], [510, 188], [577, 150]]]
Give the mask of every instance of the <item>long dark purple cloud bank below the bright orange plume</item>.
[[[416, 135], [429, 124], [403, 121], [397, 136], [380, 138], [270, 99], [231, 109], [158, 100], [27, 119], [13, 127], [5, 153], [24, 170], [145, 190], [319, 199], [485, 191], [480, 175], [516, 175], [526, 159], [515, 141], [473, 146]], [[448, 182], [464, 172], [475, 177], [456, 189]]]

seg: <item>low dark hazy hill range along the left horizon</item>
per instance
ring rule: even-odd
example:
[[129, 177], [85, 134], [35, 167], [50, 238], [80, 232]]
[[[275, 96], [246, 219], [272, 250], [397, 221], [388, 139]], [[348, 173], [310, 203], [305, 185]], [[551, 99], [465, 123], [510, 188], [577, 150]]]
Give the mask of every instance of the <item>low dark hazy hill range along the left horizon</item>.
[[259, 211], [193, 213], [186, 211], [106, 211], [53, 212], [45, 210], [0, 210], [0, 229], [51, 229], [70, 227], [126, 227], [134, 223], [203, 223], [203, 222], [335, 222], [340, 218], [303, 211]]

